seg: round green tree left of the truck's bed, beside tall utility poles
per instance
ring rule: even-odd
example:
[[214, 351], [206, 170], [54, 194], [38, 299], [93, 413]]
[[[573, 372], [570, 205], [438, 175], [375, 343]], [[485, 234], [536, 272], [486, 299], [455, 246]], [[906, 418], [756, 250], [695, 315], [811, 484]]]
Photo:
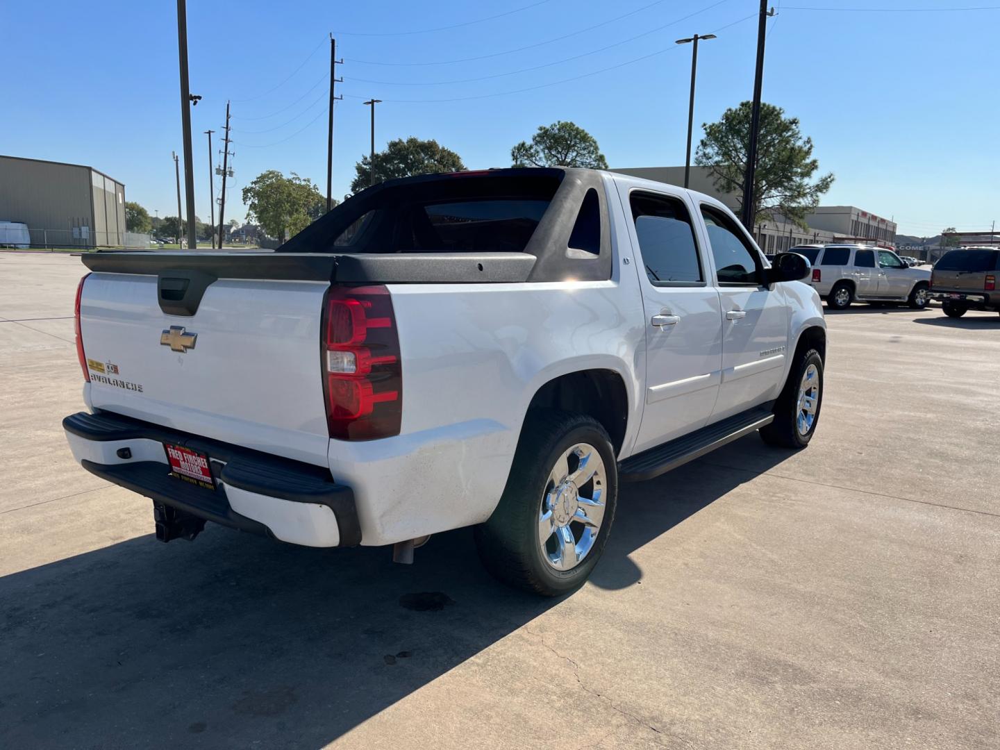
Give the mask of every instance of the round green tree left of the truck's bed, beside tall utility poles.
[[243, 202], [249, 209], [247, 218], [282, 242], [309, 226], [326, 207], [311, 180], [295, 172], [285, 177], [275, 169], [262, 172], [243, 188]]

